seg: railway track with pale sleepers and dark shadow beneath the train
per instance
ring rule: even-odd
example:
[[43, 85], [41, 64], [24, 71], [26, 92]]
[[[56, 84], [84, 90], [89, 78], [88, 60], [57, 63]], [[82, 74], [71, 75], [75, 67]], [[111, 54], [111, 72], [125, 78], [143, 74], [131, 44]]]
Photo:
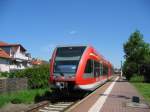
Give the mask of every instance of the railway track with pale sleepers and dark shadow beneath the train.
[[61, 93], [48, 94], [44, 101], [29, 107], [23, 112], [64, 112], [89, 94], [89, 92], [82, 91], [75, 92], [71, 95], [62, 95]]

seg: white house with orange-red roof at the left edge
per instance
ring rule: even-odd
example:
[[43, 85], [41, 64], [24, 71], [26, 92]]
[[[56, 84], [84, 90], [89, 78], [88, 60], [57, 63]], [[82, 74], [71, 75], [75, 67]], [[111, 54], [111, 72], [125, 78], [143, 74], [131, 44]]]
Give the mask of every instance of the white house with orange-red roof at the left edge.
[[[31, 65], [31, 55], [21, 44], [9, 44], [0, 41], [0, 71], [25, 69]], [[5, 61], [4, 61], [5, 60]]]

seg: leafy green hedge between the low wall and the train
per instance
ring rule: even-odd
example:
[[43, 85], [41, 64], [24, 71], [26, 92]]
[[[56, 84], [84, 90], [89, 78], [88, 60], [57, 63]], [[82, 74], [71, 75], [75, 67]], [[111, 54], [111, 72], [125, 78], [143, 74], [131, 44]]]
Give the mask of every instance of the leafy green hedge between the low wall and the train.
[[35, 66], [17, 72], [16, 77], [27, 77], [30, 88], [43, 88], [48, 86], [49, 64]]

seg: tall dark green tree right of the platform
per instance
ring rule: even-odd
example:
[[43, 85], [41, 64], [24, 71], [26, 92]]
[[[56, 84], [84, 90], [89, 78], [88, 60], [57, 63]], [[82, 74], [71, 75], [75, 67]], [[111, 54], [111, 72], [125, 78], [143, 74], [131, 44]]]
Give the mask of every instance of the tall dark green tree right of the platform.
[[143, 35], [139, 31], [131, 34], [130, 38], [123, 45], [125, 62], [123, 64], [123, 74], [129, 80], [133, 74], [141, 74], [147, 77], [149, 69], [145, 65], [150, 65], [150, 44], [145, 43]]

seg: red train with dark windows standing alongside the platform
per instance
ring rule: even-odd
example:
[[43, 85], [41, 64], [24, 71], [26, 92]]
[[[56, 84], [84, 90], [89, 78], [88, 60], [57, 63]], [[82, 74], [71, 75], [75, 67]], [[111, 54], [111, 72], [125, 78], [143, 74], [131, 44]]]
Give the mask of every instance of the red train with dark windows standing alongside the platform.
[[92, 46], [56, 47], [50, 62], [51, 87], [94, 90], [112, 76], [112, 65]]

